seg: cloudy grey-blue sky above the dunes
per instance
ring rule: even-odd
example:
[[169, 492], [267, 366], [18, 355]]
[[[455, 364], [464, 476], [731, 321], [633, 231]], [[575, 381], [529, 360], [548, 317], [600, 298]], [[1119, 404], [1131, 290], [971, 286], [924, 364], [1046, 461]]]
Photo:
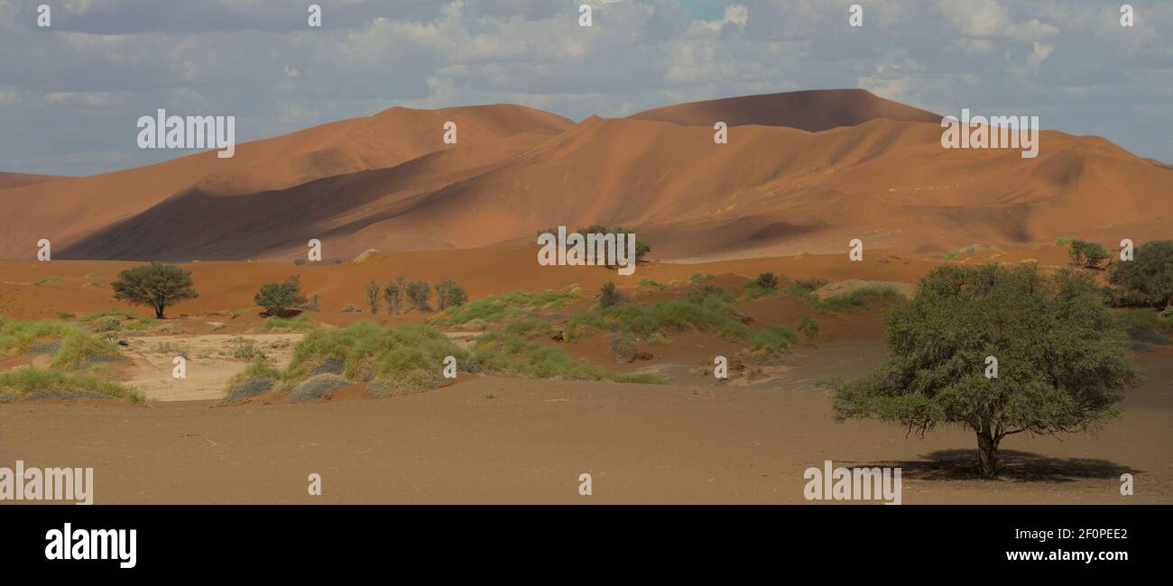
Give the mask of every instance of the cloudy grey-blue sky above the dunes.
[[[595, 22], [578, 27], [577, 6]], [[53, 9], [36, 26], [38, 5]], [[1037, 115], [1173, 162], [1173, 2], [0, 0], [0, 171], [88, 175], [158, 108], [237, 139], [393, 105], [510, 102], [582, 120], [713, 97], [865, 88], [938, 114]]]

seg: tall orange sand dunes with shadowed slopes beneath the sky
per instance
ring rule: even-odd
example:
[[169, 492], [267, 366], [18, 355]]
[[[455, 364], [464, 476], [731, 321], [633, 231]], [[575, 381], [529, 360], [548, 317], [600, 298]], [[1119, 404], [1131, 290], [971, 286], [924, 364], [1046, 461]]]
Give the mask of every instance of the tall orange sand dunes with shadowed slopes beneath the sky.
[[[728, 144], [714, 144], [724, 120]], [[442, 127], [457, 122], [457, 145]], [[158, 165], [0, 189], [0, 258], [292, 259], [531, 241], [597, 222], [660, 259], [1058, 237], [1173, 237], [1173, 170], [1044, 131], [1037, 158], [941, 148], [931, 113], [861, 90], [747, 96], [578, 124], [513, 105], [407, 110]], [[791, 128], [796, 127], [796, 128]], [[813, 129], [815, 131], [808, 131]]]

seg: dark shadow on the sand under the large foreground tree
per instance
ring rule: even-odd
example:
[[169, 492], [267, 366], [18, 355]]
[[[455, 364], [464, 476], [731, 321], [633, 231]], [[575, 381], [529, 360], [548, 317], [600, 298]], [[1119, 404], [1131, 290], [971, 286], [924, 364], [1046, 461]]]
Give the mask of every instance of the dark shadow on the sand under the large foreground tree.
[[[937, 450], [923, 459], [866, 464], [901, 469], [901, 476], [916, 481], [981, 481], [977, 450]], [[862, 463], [843, 464], [865, 465]], [[1056, 458], [1029, 451], [998, 450], [998, 478], [1015, 482], [1074, 482], [1084, 478], [1119, 479], [1123, 473], [1141, 470], [1098, 458]]]

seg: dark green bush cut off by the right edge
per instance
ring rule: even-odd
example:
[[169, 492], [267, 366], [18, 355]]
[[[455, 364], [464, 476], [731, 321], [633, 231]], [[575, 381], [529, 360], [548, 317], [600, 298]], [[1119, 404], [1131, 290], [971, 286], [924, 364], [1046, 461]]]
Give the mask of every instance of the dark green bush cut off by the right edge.
[[1112, 265], [1107, 280], [1117, 305], [1158, 309], [1173, 305], [1173, 240], [1138, 246], [1132, 260]]

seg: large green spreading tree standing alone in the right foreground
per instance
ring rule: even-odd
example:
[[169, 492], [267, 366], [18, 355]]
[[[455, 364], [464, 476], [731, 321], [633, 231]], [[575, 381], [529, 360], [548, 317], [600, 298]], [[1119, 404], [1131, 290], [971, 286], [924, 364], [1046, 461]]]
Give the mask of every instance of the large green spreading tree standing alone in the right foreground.
[[891, 354], [875, 373], [830, 384], [836, 421], [879, 418], [922, 437], [970, 428], [988, 478], [1004, 437], [1085, 431], [1117, 415], [1112, 404], [1138, 381], [1100, 291], [1071, 270], [941, 266], [889, 314], [887, 336]]

